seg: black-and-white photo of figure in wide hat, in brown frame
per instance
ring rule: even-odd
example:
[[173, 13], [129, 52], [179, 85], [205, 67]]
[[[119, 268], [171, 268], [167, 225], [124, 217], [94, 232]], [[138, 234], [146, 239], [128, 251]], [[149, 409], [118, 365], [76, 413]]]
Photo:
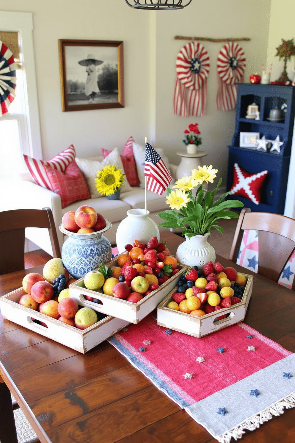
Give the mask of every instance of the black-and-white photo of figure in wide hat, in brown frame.
[[63, 111], [123, 108], [123, 42], [58, 40]]

